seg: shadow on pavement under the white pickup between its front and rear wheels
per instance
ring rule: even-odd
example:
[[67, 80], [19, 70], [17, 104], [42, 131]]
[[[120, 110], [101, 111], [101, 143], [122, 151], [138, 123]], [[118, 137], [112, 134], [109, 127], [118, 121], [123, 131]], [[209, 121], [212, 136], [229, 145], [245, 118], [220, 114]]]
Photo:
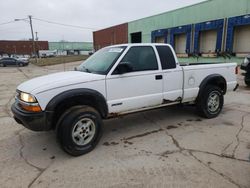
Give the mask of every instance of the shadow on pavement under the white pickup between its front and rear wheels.
[[119, 140], [145, 131], [178, 128], [191, 121], [202, 120], [196, 115], [196, 108], [190, 105], [175, 105], [138, 112], [106, 120], [103, 140]]

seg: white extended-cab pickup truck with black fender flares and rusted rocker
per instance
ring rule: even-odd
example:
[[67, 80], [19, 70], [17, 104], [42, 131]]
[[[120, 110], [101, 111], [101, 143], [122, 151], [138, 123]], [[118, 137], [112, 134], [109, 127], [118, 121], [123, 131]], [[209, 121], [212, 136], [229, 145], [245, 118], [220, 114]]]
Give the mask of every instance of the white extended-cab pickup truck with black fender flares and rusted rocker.
[[19, 85], [12, 112], [28, 129], [56, 130], [62, 148], [78, 156], [98, 143], [102, 119], [179, 103], [218, 116], [223, 96], [237, 89], [236, 70], [236, 63], [181, 66], [167, 44], [110, 46], [75, 71]]

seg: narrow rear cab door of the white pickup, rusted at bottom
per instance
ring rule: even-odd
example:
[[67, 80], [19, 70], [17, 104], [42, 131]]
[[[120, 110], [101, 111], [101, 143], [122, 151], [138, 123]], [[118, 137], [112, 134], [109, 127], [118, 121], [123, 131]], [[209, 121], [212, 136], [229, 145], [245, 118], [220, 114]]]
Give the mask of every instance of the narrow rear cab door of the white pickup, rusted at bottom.
[[156, 49], [162, 67], [164, 102], [179, 102], [183, 98], [183, 70], [171, 46], [156, 45]]

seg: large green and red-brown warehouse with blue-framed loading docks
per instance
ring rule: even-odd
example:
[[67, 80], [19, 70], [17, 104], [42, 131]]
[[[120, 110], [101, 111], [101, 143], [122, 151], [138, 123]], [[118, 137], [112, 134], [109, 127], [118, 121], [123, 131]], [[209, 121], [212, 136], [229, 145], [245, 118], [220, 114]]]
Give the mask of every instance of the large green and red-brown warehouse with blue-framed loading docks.
[[[93, 33], [94, 46], [124, 43], [169, 43], [180, 61], [197, 57], [206, 61], [221, 61], [227, 57], [243, 57], [250, 53], [250, 2], [249, 0], [208, 0], [177, 10], [150, 16], [127, 23], [120, 33], [112, 35], [110, 28]], [[113, 26], [112, 30], [120, 28]], [[106, 33], [105, 35], [102, 35]], [[97, 38], [99, 35], [103, 38]], [[111, 40], [115, 37], [115, 40]], [[215, 58], [217, 57], [217, 58]], [[241, 61], [235, 58], [238, 62]]]

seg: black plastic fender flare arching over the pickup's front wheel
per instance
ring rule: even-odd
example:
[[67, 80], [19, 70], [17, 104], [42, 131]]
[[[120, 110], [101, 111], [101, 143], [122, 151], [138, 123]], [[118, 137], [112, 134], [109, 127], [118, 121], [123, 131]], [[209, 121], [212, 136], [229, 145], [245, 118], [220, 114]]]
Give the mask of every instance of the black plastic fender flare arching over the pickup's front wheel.
[[70, 99], [70, 98], [74, 98], [74, 97], [91, 97], [95, 99], [97, 108], [96, 110], [98, 110], [100, 112], [100, 115], [102, 117], [107, 117], [108, 115], [108, 106], [106, 103], [106, 99], [105, 97], [99, 93], [96, 90], [92, 90], [92, 89], [72, 89], [72, 90], [68, 90], [65, 92], [62, 92], [58, 95], [56, 95], [55, 97], [53, 97], [50, 102], [48, 103], [48, 105], [46, 106], [46, 111], [52, 111], [54, 112], [56, 107], [61, 104], [64, 100]]

